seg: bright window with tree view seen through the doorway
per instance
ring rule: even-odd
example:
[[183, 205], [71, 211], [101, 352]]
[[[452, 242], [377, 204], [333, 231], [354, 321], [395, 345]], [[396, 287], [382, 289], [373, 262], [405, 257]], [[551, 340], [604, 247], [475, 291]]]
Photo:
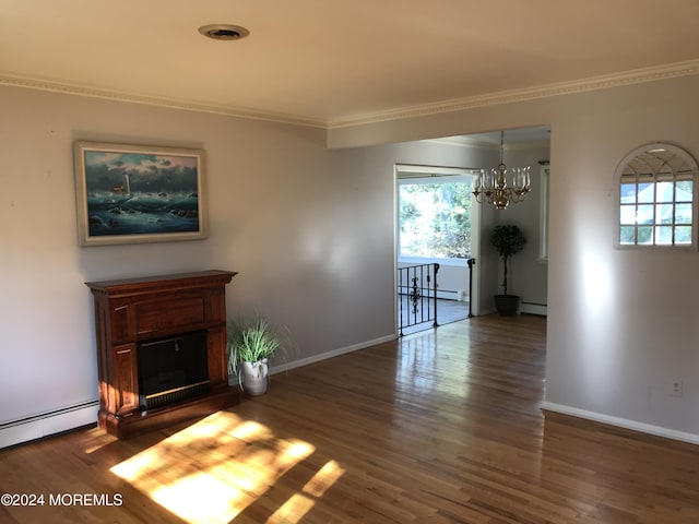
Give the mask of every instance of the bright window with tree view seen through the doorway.
[[472, 191], [470, 175], [399, 171], [399, 258], [469, 258]]

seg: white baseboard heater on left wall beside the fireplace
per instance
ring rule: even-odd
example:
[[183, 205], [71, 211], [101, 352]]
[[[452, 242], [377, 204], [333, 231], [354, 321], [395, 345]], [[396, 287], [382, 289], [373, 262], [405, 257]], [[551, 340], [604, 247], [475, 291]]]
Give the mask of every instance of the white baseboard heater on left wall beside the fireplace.
[[98, 401], [87, 401], [0, 424], [0, 449], [97, 422]]

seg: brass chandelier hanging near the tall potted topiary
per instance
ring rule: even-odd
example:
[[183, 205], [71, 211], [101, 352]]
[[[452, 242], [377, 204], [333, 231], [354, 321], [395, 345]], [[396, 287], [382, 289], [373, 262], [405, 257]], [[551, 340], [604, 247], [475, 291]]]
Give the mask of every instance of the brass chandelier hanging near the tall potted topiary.
[[500, 131], [500, 164], [498, 167], [490, 169], [490, 172], [481, 169], [473, 182], [475, 188], [473, 194], [476, 198], [476, 202], [479, 204], [483, 202], [493, 204], [496, 210], [505, 210], [510, 202], [522, 202], [526, 193], [532, 189], [529, 166], [512, 168], [512, 184], [507, 184], [507, 167], [502, 162], [503, 153], [505, 131]]

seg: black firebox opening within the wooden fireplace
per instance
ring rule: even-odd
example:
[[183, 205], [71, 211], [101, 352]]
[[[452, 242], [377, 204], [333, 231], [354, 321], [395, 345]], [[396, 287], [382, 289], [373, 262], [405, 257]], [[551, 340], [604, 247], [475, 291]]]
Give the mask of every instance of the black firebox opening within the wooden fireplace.
[[138, 376], [141, 410], [209, 393], [206, 332], [139, 344]]

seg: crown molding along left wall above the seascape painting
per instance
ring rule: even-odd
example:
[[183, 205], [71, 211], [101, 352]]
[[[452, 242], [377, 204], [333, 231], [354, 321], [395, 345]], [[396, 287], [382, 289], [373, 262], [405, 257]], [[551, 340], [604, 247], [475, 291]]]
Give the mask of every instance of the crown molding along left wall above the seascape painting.
[[86, 96], [91, 98], [102, 98], [115, 102], [127, 102], [130, 104], [143, 104], [147, 106], [167, 107], [170, 109], [182, 109], [196, 112], [210, 112], [228, 117], [248, 118], [253, 120], [265, 120], [279, 123], [291, 123], [294, 126], [305, 126], [311, 128], [327, 128], [327, 122], [320, 119], [285, 115], [281, 112], [261, 111], [244, 107], [223, 106], [215, 104], [204, 104], [193, 100], [181, 100], [175, 98], [162, 98], [144, 96], [132, 93], [100, 90], [84, 85], [74, 85], [54, 82], [42, 79], [28, 79], [0, 72], [0, 85], [14, 87], [25, 87], [29, 90], [49, 91], [68, 95]]

